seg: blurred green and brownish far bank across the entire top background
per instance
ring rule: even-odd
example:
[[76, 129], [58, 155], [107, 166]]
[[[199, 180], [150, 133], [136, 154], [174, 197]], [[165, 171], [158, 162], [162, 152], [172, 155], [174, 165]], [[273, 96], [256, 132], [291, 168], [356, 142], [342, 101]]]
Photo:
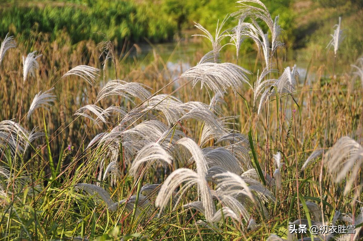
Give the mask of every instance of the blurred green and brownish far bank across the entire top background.
[[[262, 0], [272, 17], [280, 15], [287, 48], [316, 50], [329, 43], [332, 27], [342, 16], [347, 36], [342, 49], [363, 51], [363, 0]], [[18, 40], [70, 41], [76, 44], [103, 38], [118, 48], [132, 43], [167, 42], [196, 33], [194, 22], [210, 32], [217, 20], [237, 10], [236, 0], [0, 0], [0, 39], [10, 32]], [[229, 19], [226, 28], [236, 21]], [[40, 34], [41, 33], [41, 34]], [[245, 44], [244, 48], [251, 45]], [[354, 49], [354, 53], [351, 53]], [[342, 52], [345, 52], [344, 50]], [[349, 56], [347, 56], [349, 57]], [[352, 56], [351, 56], [352, 57]], [[353, 59], [353, 57], [352, 57]]]

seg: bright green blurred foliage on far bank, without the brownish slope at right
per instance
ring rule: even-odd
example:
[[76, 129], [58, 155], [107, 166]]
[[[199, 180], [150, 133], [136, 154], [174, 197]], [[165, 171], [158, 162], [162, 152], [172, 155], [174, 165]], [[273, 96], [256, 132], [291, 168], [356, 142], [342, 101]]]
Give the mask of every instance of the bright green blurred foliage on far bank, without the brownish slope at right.
[[[273, 17], [280, 14], [280, 24], [284, 29], [293, 25], [293, 15], [289, 10], [290, 0], [270, 1]], [[229, 13], [236, 11], [236, 1], [221, 3], [211, 1], [162, 0], [108, 1], [74, 0], [37, 1], [25, 4], [5, 5], [0, 9], [0, 36], [7, 32], [29, 39], [37, 33], [49, 33], [50, 40], [64, 39], [69, 36], [72, 43], [93, 39], [100, 41], [95, 32], [105, 33], [111, 40], [128, 39], [133, 42], [171, 40], [175, 33], [193, 28], [194, 21], [207, 29], [214, 29], [217, 20], [223, 20]], [[229, 19], [226, 28], [235, 25]], [[290, 37], [290, 31], [286, 36]], [[286, 38], [288, 39], [288, 38]]]

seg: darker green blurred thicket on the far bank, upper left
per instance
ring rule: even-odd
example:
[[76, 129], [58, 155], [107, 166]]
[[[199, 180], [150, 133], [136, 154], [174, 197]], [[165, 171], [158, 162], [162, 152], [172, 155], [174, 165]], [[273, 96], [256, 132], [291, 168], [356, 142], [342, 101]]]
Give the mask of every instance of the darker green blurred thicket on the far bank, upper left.
[[10, 31], [29, 38], [32, 32], [44, 32], [56, 40], [64, 31], [73, 43], [87, 39], [99, 41], [95, 32], [105, 33], [112, 40], [140, 41], [144, 37], [152, 41], [169, 40], [176, 28], [169, 16], [157, 15], [150, 6], [121, 0], [13, 5], [0, 10], [0, 14], [1, 36]]

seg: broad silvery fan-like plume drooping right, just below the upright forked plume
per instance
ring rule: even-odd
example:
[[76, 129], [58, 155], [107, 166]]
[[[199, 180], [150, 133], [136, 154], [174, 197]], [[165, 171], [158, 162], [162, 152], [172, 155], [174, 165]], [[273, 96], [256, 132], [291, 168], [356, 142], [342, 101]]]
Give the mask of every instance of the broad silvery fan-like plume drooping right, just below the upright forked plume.
[[232, 88], [236, 92], [244, 84], [252, 88], [246, 74], [250, 74], [250, 72], [236, 64], [203, 63], [188, 69], [180, 77], [192, 78], [193, 86], [200, 81], [201, 88], [206, 86], [215, 94], [223, 95], [228, 91], [228, 88]]

